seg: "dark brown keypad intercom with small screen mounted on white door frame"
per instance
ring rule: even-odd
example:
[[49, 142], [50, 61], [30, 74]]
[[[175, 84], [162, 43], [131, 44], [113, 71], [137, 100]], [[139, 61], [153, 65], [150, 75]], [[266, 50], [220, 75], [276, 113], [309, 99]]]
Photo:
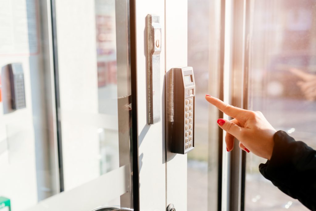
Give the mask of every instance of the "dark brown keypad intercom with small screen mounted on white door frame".
[[194, 148], [195, 82], [192, 67], [173, 68], [166, 76], [166, 134], [171, 152]]

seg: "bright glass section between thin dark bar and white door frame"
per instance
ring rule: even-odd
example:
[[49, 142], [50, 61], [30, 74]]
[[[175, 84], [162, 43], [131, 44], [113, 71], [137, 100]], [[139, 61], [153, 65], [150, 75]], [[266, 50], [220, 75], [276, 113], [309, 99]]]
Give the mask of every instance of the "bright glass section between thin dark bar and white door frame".
[[56, 23], [63, 188], [125, 166], [131, 207], [128, 2], [57, 2]]

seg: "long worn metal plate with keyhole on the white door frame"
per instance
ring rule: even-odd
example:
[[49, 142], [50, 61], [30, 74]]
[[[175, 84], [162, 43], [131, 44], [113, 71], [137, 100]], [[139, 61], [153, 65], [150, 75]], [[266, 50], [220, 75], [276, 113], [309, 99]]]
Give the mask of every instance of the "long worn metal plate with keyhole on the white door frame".
[[161, 25], [159, 16], [147, 15], [147, 95], [148, 124], [160, 121], [160, 52]]

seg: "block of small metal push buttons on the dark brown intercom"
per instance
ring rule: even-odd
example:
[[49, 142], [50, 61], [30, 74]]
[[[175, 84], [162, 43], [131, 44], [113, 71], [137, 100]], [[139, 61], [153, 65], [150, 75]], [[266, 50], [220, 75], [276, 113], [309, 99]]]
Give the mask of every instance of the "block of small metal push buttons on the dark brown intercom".
[[185, 99], [185, 149], [193, 147], [193, 97]]

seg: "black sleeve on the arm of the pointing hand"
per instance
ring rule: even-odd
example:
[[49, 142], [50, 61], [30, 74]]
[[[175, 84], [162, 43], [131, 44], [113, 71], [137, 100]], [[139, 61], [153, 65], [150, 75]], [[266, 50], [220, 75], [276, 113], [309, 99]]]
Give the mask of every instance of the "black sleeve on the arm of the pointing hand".
[[270, 161], [259, 171], [283, 193], [316, 211], [316, 151], [284, 131], [274, 134]]

